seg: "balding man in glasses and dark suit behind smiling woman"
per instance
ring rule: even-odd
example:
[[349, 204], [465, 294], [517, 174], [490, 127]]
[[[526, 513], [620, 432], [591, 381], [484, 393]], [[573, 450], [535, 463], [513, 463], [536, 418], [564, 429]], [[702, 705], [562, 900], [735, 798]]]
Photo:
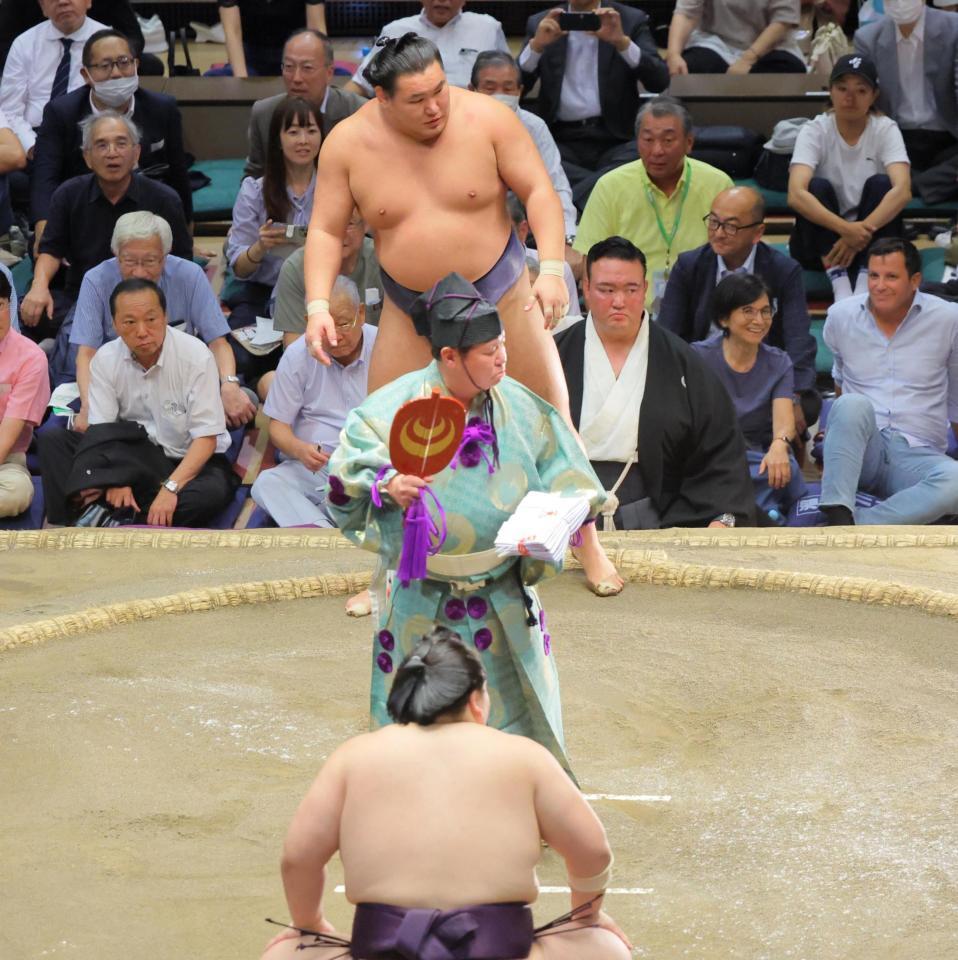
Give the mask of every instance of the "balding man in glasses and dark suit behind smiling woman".
[[709, 242], [679, 256], [656, 317], [660, 326], [686, 343], [718, 332], [711, 313], [712, 291], [729, 273], [754, 273], [772, 298], [772, 327], [766, 338], [784, 350], [795, 368], [795, 421], [798, 433], [818, 419], [822, 399], [815, 389], [815, 354], [802, 283], [802, 268], [791, 257], [762, 243], [765, 201], [751, 187], [723, 190], [706, 217]]

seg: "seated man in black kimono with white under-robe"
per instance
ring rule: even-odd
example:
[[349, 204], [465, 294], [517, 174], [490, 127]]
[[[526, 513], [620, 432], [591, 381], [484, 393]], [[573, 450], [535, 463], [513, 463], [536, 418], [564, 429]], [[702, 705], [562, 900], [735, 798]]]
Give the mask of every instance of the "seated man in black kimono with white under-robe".
[[586, 261], [589, 316], [556, 337], [572, 419], [620, 529], [752, 525], [745, 443], [725, 388], [645, 312], [645, 256], [610, 237]]

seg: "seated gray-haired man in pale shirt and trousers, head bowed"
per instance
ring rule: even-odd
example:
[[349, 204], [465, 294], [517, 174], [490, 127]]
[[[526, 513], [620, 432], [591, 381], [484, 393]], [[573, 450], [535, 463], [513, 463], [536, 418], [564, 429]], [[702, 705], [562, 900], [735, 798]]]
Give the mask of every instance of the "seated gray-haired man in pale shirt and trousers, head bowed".
[[263, 407], [281, 462], [260, 473], [251, 495], [281, 527], [336, 526], [326, 509], [326, 464], [346, 415], [368, 392], [376, 328], [365, 326], [366, 307], [348, 277], [336, 278], [329, 310], [338, 341], [328, 348], [333, 362], [314, 360], [299, 337], [286, 348]]

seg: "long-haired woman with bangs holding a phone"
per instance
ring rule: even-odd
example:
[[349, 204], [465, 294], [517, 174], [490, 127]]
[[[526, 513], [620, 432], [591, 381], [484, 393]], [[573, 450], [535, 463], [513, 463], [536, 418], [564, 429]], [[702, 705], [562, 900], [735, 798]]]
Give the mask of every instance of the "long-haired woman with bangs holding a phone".
[[[226, 244], [235, 279], [223, 295], [234, 330], [269, 315], [270, 296], [283, 261], [302, 245], [313, 209], [316, 158], [323, 142], [321, 120], [319, 108], [301, 97], [281, 101], [270, 121], [264, 174], [247, 177], [240, 186]], [[299, 237], [287, 236], [288, 226], [301, 227]], [[254, 357], [242, 347], [234, 352], [237, 372], [247, 378], [275, 369], [279, 360], [278, 350], [275, 358], [272, 354]]]

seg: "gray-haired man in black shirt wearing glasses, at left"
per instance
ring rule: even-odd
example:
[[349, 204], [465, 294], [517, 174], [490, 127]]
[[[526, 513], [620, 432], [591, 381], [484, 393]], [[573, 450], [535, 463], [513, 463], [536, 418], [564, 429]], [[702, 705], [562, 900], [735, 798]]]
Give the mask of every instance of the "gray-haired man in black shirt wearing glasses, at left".
[[[20, 304], [24, 332], [36, 340], [55, 332], [76, 302], [87, 271], [109, 259], [113, 229], [124, 213], [149, 210], [163, 217], [173, 231], [173, 253], [193, 256], [176, 191], [136, 172], [140, 135], [133, 121], [105, 110], [85, 117], [80, 129], [83, 159], [91, 172], [72, 177], [53, 194], [33, 284]], [[64, 260], [69, 264], [66, 280], [62, 290], [54, 291], [53, 279]]]

